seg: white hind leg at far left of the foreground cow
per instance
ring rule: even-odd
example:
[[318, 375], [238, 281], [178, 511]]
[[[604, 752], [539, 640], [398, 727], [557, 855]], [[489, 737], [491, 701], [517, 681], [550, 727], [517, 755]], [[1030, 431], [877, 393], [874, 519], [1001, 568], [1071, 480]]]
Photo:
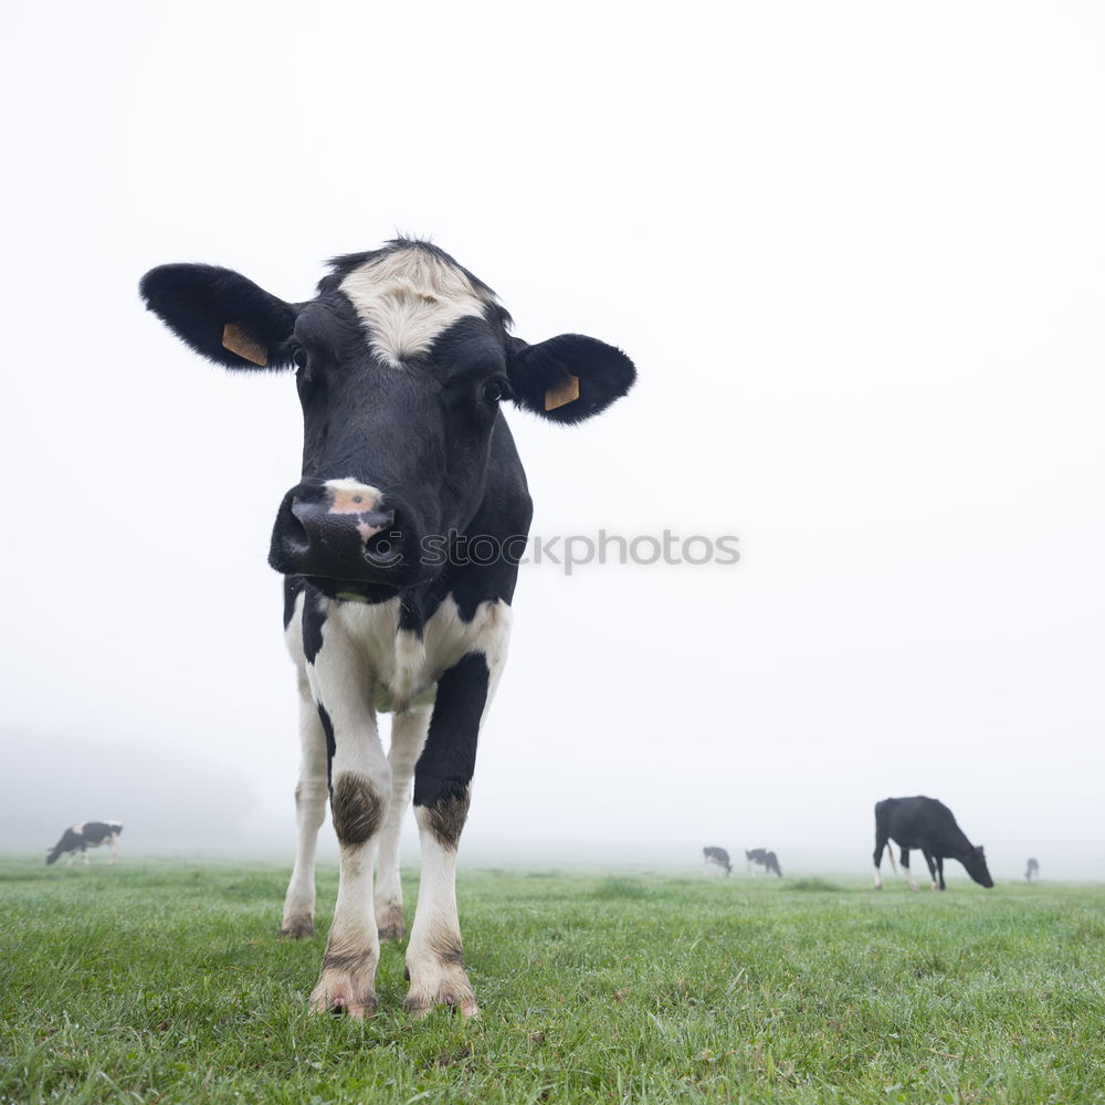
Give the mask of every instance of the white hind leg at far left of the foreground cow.
[[295, 866], [284, 895], [285, 936], [311, 936], [315, 930], [315, 849], [326, 817], [326, 734], [305, 670], [299, 687], [299, 781], [295, 788], [295, 821], [298, 836]]

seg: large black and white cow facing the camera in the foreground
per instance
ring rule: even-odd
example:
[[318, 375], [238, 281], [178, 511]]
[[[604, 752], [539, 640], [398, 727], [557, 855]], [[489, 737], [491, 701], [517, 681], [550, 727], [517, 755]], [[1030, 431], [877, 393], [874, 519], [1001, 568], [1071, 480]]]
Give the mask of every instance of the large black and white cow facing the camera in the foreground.
[[[514, 337], [486, 284], [406, 239], [336, 259], [304, 303], [196, 264], [152, 270], [141, 294], [209, 359], [295, 371], [303, 475], [280, 504], [269, 555], [285, 576], [303, 753], [284, 933], [313, 930], [327, 792], [340, 844], [313, 1006], [351, 1017], [376, 1006], [379, 938], [406, 930], [399, 830], [413, 783], [422, 872], [406, 1004], [474, 1015], [456, 846], [532, 516], [501, 404], [580, 422], [625, 394], [633, 365], [594, 338]], [[378, 711], [394, 715], [387, 755]]]

